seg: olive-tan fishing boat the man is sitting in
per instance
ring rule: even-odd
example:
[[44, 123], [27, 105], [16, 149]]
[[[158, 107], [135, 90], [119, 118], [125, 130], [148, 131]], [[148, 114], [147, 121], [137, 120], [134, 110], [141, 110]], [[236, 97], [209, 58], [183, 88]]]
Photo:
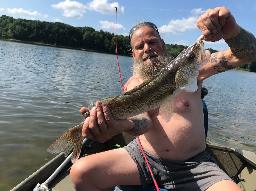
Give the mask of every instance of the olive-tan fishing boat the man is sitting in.
[[[134, 136], [120, 133], [105, 143], [88, 140], [83, 146], [81, 157], [86, 155], [102, 152], [116, 147], [123, 147], [131, 142]], [[214, 157], [218, 166], [231, 177], [242, 190], [255, 191], [256, 177], [256, 154], [251, 151], [218, 146], [216, 144], [206, 143], [205, 149], [212, 157]], [[65, 161], [63, 152], [46, 163], [11, 191], [32, 191], [37, 184], [42, 184], [50, 177], [54, 171]], [[58, 175], [49, 183], [48, 189], [51, 191], [74, 191], [74, 187], [70, 178], [70, 168], [72, 163], [70, 160], [58, 173]]]

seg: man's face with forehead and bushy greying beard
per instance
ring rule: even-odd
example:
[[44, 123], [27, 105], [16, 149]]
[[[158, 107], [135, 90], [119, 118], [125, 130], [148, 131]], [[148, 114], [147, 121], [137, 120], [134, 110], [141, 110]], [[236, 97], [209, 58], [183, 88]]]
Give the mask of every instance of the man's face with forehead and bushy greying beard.
[[165, 50], [165, 43], [151, 27], [137, 29], [131, 38], [134, 58], [133, 74], [145, 81], [164, 68], [171, 60]]

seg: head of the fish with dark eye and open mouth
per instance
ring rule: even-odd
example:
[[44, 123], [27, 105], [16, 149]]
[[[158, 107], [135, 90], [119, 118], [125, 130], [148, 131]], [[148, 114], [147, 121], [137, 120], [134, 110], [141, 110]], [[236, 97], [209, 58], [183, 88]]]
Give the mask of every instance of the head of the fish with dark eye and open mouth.
[[197, 76], [203, 65], [209, 62], [211, 53], [204, 49], [202, 40], [183, 50], [174, 60], [177, 67], [176, 87], [189, 92], [197, 90]]

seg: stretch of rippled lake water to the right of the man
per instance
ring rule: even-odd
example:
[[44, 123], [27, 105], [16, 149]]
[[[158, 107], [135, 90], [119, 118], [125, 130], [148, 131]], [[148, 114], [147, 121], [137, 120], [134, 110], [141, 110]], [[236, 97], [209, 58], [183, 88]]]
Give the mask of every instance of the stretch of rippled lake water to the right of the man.
[[256, 151], [256, 73], [232, 70], [206, 79], [207, 141]]

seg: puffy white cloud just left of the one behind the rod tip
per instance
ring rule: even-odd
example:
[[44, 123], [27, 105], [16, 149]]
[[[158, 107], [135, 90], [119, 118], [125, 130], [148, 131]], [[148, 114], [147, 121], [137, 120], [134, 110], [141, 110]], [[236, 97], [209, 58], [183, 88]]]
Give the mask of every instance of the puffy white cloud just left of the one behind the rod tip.
[[63, 10], [64, 17], [78, 18], [81, 19], [85, 13], [87, 7], [78, 1], [66, 0], [59, 2], [58, 4], [51, 5], [53, 8]]

